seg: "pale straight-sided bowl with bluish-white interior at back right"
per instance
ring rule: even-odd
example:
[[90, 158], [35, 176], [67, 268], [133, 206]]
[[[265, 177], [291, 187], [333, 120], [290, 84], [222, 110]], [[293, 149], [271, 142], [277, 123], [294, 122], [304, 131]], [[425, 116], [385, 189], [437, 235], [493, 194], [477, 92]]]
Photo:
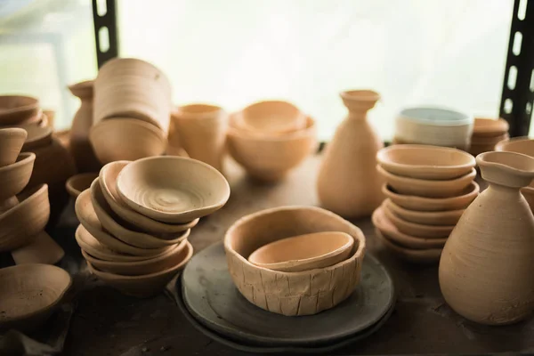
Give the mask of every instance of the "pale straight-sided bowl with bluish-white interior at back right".
[[393, 143], [417, 143], [467, 150], [473, 132], [473, 117], [433, 107], [403, 109], [395, 121]]

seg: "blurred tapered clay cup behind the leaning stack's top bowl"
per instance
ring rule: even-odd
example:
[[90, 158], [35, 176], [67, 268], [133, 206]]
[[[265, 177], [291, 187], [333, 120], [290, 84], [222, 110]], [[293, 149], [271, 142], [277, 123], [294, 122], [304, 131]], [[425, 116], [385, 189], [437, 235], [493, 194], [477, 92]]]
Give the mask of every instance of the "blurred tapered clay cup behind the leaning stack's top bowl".
[[190, 158], [223, 170], [223, 153], [228, 129], [228, 114], [218, 106], [184, 105], [174, 110], [171, 119], [180, 145]]

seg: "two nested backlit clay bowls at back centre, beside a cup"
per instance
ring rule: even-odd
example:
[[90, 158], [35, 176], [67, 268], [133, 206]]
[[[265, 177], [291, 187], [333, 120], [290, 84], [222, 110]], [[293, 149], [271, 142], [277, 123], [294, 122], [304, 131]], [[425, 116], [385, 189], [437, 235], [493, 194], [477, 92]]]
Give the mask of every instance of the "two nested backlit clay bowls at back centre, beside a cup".
[[286, 101], [256, 102], [230, 119], [231, 157], [259, 181], [284, 178], [316, 145], [312, 117]]

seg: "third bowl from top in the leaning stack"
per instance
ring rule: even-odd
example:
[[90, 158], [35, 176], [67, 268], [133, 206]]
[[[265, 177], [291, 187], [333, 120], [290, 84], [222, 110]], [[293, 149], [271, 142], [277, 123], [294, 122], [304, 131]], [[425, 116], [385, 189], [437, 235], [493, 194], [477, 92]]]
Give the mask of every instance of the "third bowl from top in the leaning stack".
[[122, 222], [117, 218], [117, 215], [113, 213], [111, 207], [109, 207], [109, 204], [102, 193], [98, 178], [91, 184], [91, 202], [93, 203], [94, 212], [96, 213], [102, 228], [115, 238], [134, 247], [160, 248], [176, 245], [182, 242], [182, 240], [187, 239], [190, 234], [190, 230], [186, 230], [175, 234], [174, 239], [158, 239], [157, 237], [144, 232], [128, 230], [125, 226], [121, 225]]

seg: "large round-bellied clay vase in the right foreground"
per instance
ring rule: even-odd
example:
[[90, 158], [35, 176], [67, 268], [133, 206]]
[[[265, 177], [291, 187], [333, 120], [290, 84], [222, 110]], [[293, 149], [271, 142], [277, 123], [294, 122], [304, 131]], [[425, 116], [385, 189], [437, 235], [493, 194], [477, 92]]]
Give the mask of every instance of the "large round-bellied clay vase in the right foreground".
[[534, 216], [520, 193], [534, 178], [534, 158], [486, 152], [476, 162], [490, 186], [447, 240], [441, 293], [468, 320], [511, 324], [534, 311]]

